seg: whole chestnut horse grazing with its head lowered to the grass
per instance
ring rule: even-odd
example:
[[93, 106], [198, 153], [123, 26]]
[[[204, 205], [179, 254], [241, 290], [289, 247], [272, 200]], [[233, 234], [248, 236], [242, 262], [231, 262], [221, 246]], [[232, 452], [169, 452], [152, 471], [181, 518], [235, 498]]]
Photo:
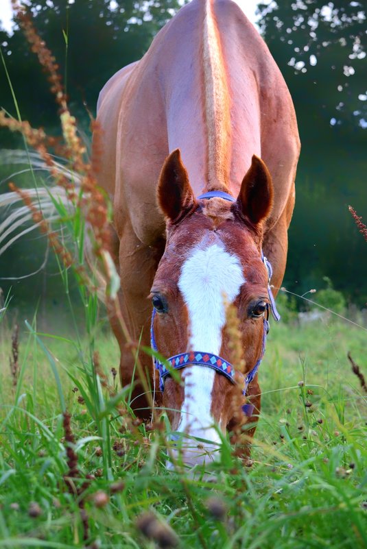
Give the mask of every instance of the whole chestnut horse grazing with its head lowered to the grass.
[[[268, 47], [232, 1], [193, 0], [139, 62], [107, 82], [97, 121], [104, 136], [99, 183], [113, 199], [130, 336], [150, 345], [153, 305], [154, 345], [163, 356], [194, 350], [230, 363], [224, 325], [234, 304], [251, 371], [261, 358], [269, 309], [262, 251], [276, 292], [300, 150], [292, 99]], [[200, 197], [209, 191], [220, 192]], [[128, 385], [134, 358], [116, 319], [110, 321], [121, 348], [121, 382]], [[174, 430], [214, 444], [220, 442], [215, 424], [225, 433], [239, 421], [228, 376], [189, 360], [179, 370], [181, 383], [167, 376], [161, 393], [152, 358], [139, 356]], [[248, 419], [250, 435], [260, 393], [256, 375], [248, 387], [257, 411]], [[139, 383], [133, 395], [134, 409], [146, 419]], [[202, 463], [212, 449], [209, 443], [204, 452], [184, 447], [184, 461]]]

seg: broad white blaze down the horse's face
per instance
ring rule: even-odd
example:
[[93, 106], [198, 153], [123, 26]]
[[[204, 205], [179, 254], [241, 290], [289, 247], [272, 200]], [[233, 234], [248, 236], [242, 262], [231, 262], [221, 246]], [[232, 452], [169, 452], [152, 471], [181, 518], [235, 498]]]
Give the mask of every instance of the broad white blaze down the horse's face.
[[[241, 264], [222, 244], [198, 245], [182, 265], [178, 287], [189, 311], [189, 350], [219, 354], [226, 304], [244, 284]], [[179, 430], [220, 443], [211, 417], [215, 371], [203, 366], [184, 370], [185, 398]]]

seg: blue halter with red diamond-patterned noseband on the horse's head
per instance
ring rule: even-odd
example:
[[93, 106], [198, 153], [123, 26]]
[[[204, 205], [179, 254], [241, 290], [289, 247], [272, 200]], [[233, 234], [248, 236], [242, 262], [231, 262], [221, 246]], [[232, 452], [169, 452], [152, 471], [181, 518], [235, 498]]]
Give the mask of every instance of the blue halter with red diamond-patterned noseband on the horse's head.
[[[230, 202], [235, 202], [236, 200], [232, 195], [228, 195], [228, 193], [224, 193], [224, 191], [210, 191], [209, 193], [204, 193], [204, 195], [200, 195], [198, 198], [199, 199], [223, 198], [225, 200], [229, 200]], [[270, 301], [270, 310], [272, 312], [272, 316], [274, 317], [274, 320], [279, 321], [281, 317], [278, 311], [276, 310], [274, 296], [272, 295], [272, 289], [270, 288], [270, 278], [272, 278], [272, 266], [270, 265], [267, 258], [265, 258], [265, 256], [263, 255], [262, 250], [261, 250], [261, 260], [263, 261], [268, 271], [268, 295], [269, 295], [269, 301]], [[269, 306], [267, 308], [267, 311], [269, 311]], [[152, 323], [150, 326], [150, 345], [152, 347], [152, 350], [154, 350], [155, 352], [158, 352], [156, 339], [154, 337], [155, 316], [156, 316], [156, 309], [153, 308]], [[250, 383], [254, 379], [254, 376], [256, 376], [257, 370], [259, 369], [259, 366], [265, 354], [266, 337], [268, 335], [269, 328], [270, 328], [270, 325], [269, 325], [268, 319], [265, 319], [265, 316], [264, 316], [263, 344], [261, 346], [261, 354], [257, 360], [257, 363], [252, 368], [252, 370], [248, 372], [246, 377], [243, 376], [244, 389], [242, 391], [242, 394], [244, 396], [246, 396], [248, 385], [250, 385]], [[185, 368], [185, 366], [189, 366], [189, 365], [200, 365], [200, 366], [212, 368], [215, 371], [217, 371], [219, 374], [222, 374], [223, 376], [225, 376], [230, 382], [235, 384], [235, 368], [228, 361], [225, 361], [224, 358], [208, 352], [189, 351], [185, 353], [175, 354], [174, 356], [167, 358], [167, 361], [165, 361], [164, 363], [159, 361], [158, 358], [154, 357], [154, 366], [156, 367], [159, 373], [159, 388], [161, 389], [161, 391], [163, 391], [165, 388], [165, 378], [169, 376], [171, 369], [178, 370], [178, 369]], [[244, 412], [245, 415], [250, 417], [252, 415], [252, 412], [254, 411], [254, 406], [252, 404], [244, 404], [244, 406], [242, 406], [242, 411]]]

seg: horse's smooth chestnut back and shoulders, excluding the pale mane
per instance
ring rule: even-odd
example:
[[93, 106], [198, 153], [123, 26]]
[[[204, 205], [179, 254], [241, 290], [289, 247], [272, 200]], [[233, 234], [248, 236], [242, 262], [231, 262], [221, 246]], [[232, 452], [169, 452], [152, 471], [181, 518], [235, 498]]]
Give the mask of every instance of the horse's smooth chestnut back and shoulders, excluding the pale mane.
[[[239, 6], [231, 0], [211, 5], [229, 89], [230, 190], [239, 191], [252, 154], [261, 156], [274, 183], [272, 226], [292, 193], [298, 159], [292, 99], [268, 47]], [[98, 118], [106, 140], [103, 185], [115, 194], [115, 221], [126, 215], [128, 198], [128, 215], [141, 233], [161, 226], [156, 184], [169, 151], [181, 149], [196, 193], [206, 182], [210, 130], [203, 90], [205, 10], [202, 0], [185, 5], [139, 64], [117, 73], [102, 90]]]

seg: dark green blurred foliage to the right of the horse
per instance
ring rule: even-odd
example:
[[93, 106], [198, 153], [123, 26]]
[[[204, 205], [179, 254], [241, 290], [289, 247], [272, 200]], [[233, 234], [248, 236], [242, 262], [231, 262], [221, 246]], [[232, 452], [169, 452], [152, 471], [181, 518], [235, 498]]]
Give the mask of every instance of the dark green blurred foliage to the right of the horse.
[[302, 145], [283, 284], [302, 295], [320, 287], [327, 273], [348, 300], [364, 306], [366, 245], [358, 241], [348, 204], [364, 216], [366, 6], [285, 0], [259, 8], [263, 38], [294, 101]]

